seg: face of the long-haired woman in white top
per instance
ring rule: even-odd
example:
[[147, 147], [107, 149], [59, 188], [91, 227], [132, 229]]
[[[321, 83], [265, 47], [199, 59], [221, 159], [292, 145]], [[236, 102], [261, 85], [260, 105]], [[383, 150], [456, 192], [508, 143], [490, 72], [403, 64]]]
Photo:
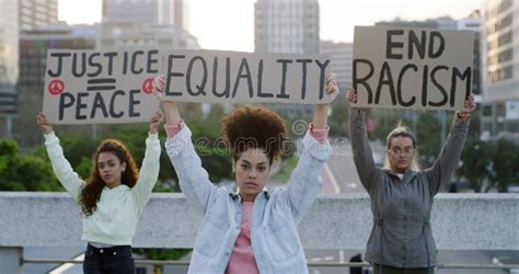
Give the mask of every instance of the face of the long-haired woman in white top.
[[101, 152], [97, 157], [97, 169], [103, 182], [109, 189], [120, 184], [120, 178], [126, 170], [126, 163], [113, 152]]

